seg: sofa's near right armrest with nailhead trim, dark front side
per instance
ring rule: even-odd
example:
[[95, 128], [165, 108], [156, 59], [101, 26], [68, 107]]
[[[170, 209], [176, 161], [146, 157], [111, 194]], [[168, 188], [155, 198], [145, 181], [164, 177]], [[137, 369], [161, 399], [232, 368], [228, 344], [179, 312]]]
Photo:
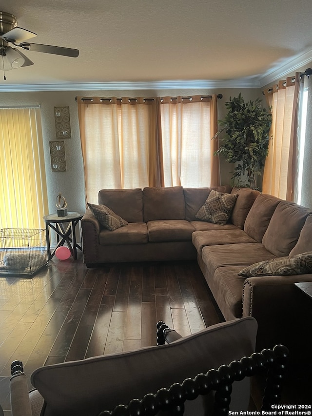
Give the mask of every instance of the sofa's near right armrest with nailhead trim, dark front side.
[[258, 322], [257, 351], [284, 344], [297, 351], [311, 311], [311, 299], [294, 285], [312, 281], [312, 274], [248, 277], [243, 286], [243, 317]]

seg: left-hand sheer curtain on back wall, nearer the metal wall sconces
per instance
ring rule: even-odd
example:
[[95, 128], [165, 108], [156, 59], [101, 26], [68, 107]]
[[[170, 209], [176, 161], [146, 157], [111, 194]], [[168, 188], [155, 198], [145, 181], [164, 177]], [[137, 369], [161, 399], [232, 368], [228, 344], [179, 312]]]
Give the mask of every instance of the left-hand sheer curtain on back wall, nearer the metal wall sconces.
[[77, 100], [87, 201], [103, 188], [156, 186], [156, 99]]

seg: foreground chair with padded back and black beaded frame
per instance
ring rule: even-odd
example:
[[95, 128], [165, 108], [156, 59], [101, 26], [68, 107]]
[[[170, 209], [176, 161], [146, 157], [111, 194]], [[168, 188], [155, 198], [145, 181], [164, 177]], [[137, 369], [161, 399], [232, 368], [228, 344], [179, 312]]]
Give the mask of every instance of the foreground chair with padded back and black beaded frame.
[[[160, 327], [168, 332], [163, 323]], [[256, 332], [256, 320], [246, 317], [180, 339], [171, 332], [174, 342], [168, 345], [41, 367], [31, 376], [38, 389], [36, 400], [44, 400], [43, 406], [40, 401], [40, 415], [156, 415], [158, 410], [162, 415], [179, 415], [185, 408], [185, 415], [199, 416], [212, 413], [214, 391], [215, 412], [224, 415], [229, 405], [231, 410], [248, 410], [250, 382], [246, 376], [267, 368], [273, 381], [280, 381], [287, 358], [282, 346], [254, 353]], [[164, 337], [159, 328], [157, 335], [161, 344]], [[17, 361], [12, 364], [11, 382], [20, 385], [18, 380], [23, 378], [22, 363]], [[18, 404], [20, 387], [10, 389], [11, 400]], [[274, 398], [278, 386], [276, 389]], [[268, 403], [270, 394], [267, 389]]]

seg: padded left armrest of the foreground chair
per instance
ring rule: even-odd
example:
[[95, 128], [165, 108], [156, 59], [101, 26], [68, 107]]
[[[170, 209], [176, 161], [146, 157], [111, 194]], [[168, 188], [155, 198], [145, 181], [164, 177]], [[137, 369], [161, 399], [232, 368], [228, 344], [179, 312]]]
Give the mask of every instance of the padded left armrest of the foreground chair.
[[10, 395], [12, 416], [32, 416], [25, 373], [11, 377]]

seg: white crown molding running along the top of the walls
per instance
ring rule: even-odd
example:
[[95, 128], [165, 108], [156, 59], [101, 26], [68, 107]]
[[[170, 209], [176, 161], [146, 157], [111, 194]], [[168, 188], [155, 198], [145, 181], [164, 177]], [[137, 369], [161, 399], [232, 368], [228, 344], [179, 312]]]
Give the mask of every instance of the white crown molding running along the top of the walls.
[[312, 62], [312, 49], [308, 49], [291, 59], [284, 59], [273, 68], [253, 77], [225, 80], [165, 80], [150, 82], [88, 82], [51, 84], [2, 84], [0, 92], [38, 92], [38, 91], [133, 91], [133, 90], [181, 90], [216, 88], [263, 88], [277, 79], [285, 77], [298, 68]]

